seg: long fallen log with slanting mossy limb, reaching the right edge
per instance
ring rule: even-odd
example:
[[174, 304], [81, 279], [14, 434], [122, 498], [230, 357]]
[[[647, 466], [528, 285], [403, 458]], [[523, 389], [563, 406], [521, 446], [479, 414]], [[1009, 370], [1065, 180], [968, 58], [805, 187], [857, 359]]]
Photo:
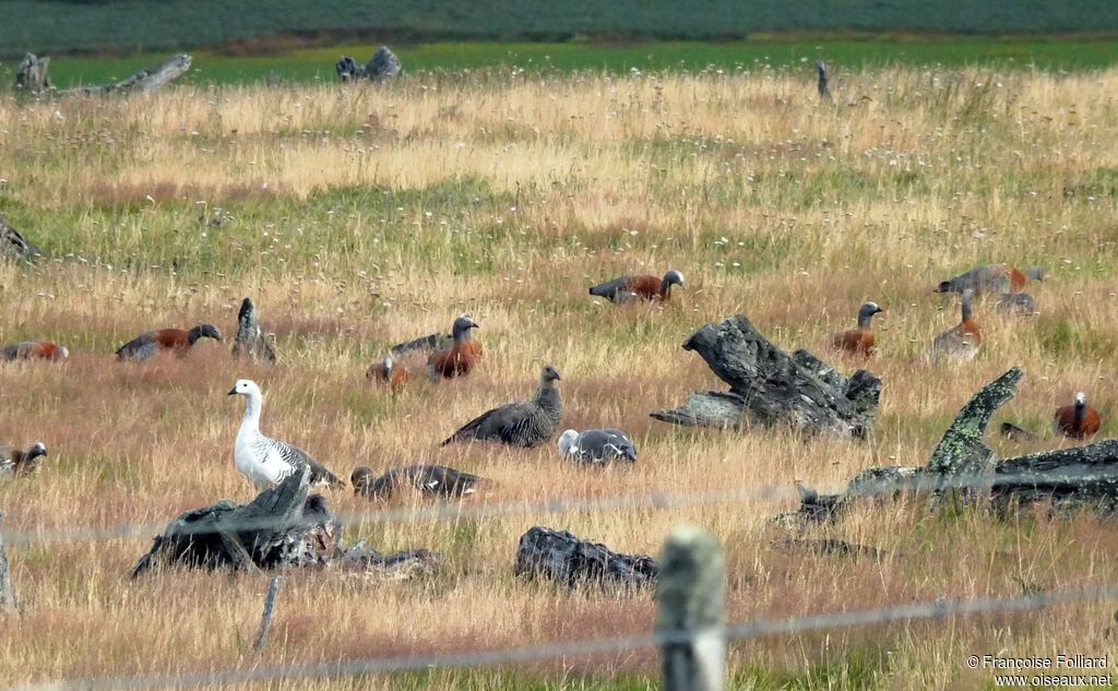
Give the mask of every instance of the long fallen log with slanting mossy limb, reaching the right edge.
[[1016, 392], [1023, 373], [1014, 367], [963, 406], [925, 466], [870, 467], [839, 494], [800, 489], [800, 505], [774, 518], [785, 527], [835, 520], [855, 499], [900, 493], [954, 501], [989, 490], [994, 504], [1051, 501], [1054, 509], [1118, 512], [1118, 439], [995, 461], [982, 443], [991, 416]]

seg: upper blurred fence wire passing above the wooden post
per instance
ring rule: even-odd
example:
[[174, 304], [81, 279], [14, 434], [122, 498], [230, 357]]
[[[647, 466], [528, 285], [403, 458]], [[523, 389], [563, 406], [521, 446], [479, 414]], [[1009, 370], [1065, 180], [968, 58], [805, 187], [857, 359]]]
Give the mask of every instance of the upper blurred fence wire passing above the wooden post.
[[[888, 496], [898, 492], [929, 492], [941, 490], [987, 491], [1012, 483], [1038, 483], [1045, 488], [1043, 474], [1039, 473], [997, 473], [993, 475], [956, 475], [956, 476], [918, 476], [899, 480], [871, 480], [859, 488], [859, 498]], [[1114, 473], [1091, 472], [1082, 465], [1065, 468], [1060, 475], [1060, 483], [1091, 483], [1102, 480], [1115, 480]], [[834, 492], [845, 490], [828, 488]], [[825, 495], [825, 493], [819, 493]], [[377, 523], [417, 523], [427, 521], [484, 519], [503, 515], [524, 515], [538, 513], [569, 513], [577, 511], [606, 511], [618, 509], [667, 509], [701, 504], [742, 503], [750, 501], [777, 501], [799, 499], [800, 490], [788, 485], [758, 485], [754, 488], [713, 490], [708, 492], [653, 492], [648, 494], [627, 494], [596, 499], [552, 499], [544, 501], [515, 501], [500, 504], [472, 504], [464, 501], [443, 502], [435, 507], [392, 508], [368, 512], [342, 512], [334, 515], [334, 521], [342, 526], [377, 524]], [[0, 530], [0, 539], [6, 546], [23, 546], [37, 543], [85, 542], [120, 539], [151, 539], [162, 534], [170, 526], [168, 523], [121, 523], [115, 526], [86, 526], [74, 528], [29, 528]], [[264, 530], [268, 528], [291, 527], [290, 519], [260, 518], [254, 520], [221, 520], [218, 528], [225, 532]], [[212, 533], [212, 523], [184, 524], [176, 529], [176, 534]]]

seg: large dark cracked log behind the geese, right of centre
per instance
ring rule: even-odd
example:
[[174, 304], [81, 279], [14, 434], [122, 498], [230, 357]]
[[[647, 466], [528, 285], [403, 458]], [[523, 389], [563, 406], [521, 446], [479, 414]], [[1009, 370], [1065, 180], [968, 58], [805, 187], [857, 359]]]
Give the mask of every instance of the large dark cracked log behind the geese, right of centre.
[[730, 427], [789, 425], [803, 433], [865, 438], [881, 396], [881, 380], [865, 370], [847, 378], [806, 350], [788, 356], [745, 316], [707, 324], [683, 343], [698, 352], [729, 391], [692, 394], [652, 417], [678, 425]]

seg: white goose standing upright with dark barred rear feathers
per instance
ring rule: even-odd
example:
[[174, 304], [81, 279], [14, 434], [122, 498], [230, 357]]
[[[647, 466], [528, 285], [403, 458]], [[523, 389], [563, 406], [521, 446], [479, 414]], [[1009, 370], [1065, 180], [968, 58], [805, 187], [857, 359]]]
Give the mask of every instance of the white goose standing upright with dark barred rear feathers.
[[257, 490], [273, 488], [296, 468], [311, 466], [312, 485], [343, 485], [337, 475], [323, 467], [311, 454], [286, 442], [273, 439], [260, 434], [260, 407], [264, 395], [255, 381], [238, 379], [229, 391], [229, 396], [245, 397], [245, 417], [237, 432], [237, 442], [233, 447], [233, 458], [237, 470]]

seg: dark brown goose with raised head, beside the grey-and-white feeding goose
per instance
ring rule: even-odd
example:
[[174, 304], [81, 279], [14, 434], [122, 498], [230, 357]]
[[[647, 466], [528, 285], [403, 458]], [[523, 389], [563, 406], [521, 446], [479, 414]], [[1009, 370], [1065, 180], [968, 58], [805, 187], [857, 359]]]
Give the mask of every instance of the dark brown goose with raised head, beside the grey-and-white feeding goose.
[[447, 437], [442, 446], [451, 442], [496, 441], [531, 447], [547, 442], [555, 436], [562, 419], [562, 397], [555, 385], [559, 380], [556, 368], [544, 365], [534, 398], [505, 404], [475, 417]]

